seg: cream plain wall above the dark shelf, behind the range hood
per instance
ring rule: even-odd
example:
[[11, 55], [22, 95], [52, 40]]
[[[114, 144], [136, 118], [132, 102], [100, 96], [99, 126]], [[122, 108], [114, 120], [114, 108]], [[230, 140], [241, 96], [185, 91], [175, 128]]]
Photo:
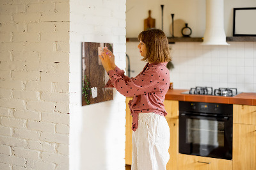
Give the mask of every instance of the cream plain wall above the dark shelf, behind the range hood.
[[[184, 20], [192, 29], [192, 37], [202, 37], [205, 31], [205, 0], [130, 0], [127, 1], [127, 37], [137, 37], [144, 29], [144, 19], [151, 17], [156, 19], [156, 27], [161, 29], [161, 4], [164, 4], [164, 33], [171, 36], [171, 13], [174, 20]], [[233, 8], [255, 7], [255, 0], [224, 0], [224, 27], [227, 36], [232, 36]], [[181, 31], [181, 30], [180, 30]]]

